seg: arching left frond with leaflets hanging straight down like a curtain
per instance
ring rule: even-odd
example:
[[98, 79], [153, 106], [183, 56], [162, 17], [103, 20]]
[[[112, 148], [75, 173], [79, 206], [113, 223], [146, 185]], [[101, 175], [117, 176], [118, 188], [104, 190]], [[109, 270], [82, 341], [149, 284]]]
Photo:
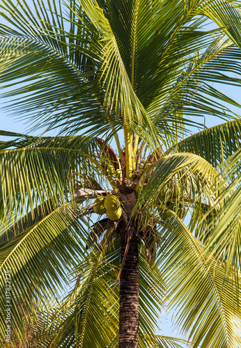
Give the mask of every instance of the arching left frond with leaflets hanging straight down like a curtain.
[[[26, 145], [28, 139], [20, 141], [20, 148], [0, 152], [1, 206], [4, 207], [5, 215], [13, 212], [13, 219], [14, 212], [24, 216], [25, 212], [33, 212], [36, 204], [41, 207], [47, 202], [50, 209], [51, 205], [73, 200], [76, 191], [74, 175], [79, 175], [80, 180], [81, 176], [84, 177], [89, 187], [91, 180], [88, 177], [95, 171], [88, 159], [91, 152], [88, 155], [86, 152], [87, 149], [93, 151], [92, 161], [95, 161], [96, 142], [92, 148], [85, 142], [86, 150], [82, 152], [81, 136], [41, 140], [30, 137], [29, 140], [26, 148], [21, 145]], [[10, 142], [10, 145], [13, 143], [15, 141]], [[85, 188], [83, 180], [79, 184]], [[2, 221], [4, 214], [1, 216]]]

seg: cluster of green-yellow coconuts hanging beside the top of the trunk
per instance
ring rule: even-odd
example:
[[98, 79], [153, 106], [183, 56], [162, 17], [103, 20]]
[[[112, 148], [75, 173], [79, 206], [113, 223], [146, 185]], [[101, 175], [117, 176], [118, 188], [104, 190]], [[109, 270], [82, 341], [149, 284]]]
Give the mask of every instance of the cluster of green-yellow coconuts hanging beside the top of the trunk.
[[100, 196], [95, 200], [93, 205], [95, 214], [107, 214], [111, 221], [120, 219], [122, 209], [120, 207], [120, 200], [114, 195]]

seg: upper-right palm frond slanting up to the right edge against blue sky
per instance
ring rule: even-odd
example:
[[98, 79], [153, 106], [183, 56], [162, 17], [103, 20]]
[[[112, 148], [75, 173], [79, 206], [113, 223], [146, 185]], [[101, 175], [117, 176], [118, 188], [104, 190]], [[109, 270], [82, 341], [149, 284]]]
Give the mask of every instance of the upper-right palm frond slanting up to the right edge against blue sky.
[[[226, 84], [240, 85], [240, 78], [230, 77], [232, 69], [226, 60], [228, 56], [239, 56], [240, 52], [233, 43], [225, 40], [224, 36], [218, 36], [214, 42], [210, 42], [210, 47], [206, 52], [194, 52], [189, 62], [183, 64], [180, 61], [178, 75], [173, 78], [170, 72], [170, 81], [165, 84], [166, 90], [161, 90], [160, 94], [148, 107], [150, 115], [158, 126], [166, 119], [173, 122], [176, 132], [180, 136], [185, 134], [189, 126], [195, 125], [194, 120], [189, 121], [189, 117], [217, 116], [224, 120], [237, 118], [225, 103], [240, 107], [240, 104], [220, 93], [217, 88], [211, 86], [211, 81], [225, 82]], [[226, 59], [227, 58], [227, 59]], [[221, 63], [220, 63], [221, 61]], [[239, 60], [232, 59], [233, 72], [240, 74]], [[218, 68], [217, 65], [221, 65]], [[217, 69], [219, 72], [217, 73]], [[221, 70], [221, 72], [220, 72]], [[180, 73], [181, 71], [181, 73]], [[166, 74], [166, 70], [165, 70]], [[176, 79], [176, 81], [175, 81]], [[213, 98], [215, 97], [215, 102]], [[183, 116], [180, 116], [182, 115]], [[199, 121], [200, 122], [200, 121]], [[196, 122], [196, 127], [203, 127]]]

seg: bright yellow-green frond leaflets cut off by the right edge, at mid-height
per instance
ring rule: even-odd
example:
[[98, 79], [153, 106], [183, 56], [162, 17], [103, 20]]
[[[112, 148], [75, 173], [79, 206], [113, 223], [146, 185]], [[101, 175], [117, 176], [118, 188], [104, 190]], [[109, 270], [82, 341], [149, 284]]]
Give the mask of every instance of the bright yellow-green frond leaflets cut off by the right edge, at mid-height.
[[[213, 218], [203, 230], [202, 235], [208, 233], [206, 248], [212, 248], [215, 260], [226, 260], [226, 274], [232, 267], [236, 276], [240, 274], [240, 149], [221, 164], [226, 180], [225, 189], [219, 194], [214, 207], [210, 209]], [[217, 205], [221, 203], [221, 209]], [[239, 287], [239, 283], [237, 285]]]

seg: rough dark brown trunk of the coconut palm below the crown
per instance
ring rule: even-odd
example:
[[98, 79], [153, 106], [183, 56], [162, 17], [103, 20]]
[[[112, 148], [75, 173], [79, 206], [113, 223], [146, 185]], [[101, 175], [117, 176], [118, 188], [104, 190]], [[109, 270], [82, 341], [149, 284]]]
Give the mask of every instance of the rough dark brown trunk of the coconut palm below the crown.
[[[120, 231], [121, 261], [125, 253], [125, 234]], [[138, 240], [130, 240], [120, 274], [119, 348], [137, 348], [139, 335], [139, 260]]]

